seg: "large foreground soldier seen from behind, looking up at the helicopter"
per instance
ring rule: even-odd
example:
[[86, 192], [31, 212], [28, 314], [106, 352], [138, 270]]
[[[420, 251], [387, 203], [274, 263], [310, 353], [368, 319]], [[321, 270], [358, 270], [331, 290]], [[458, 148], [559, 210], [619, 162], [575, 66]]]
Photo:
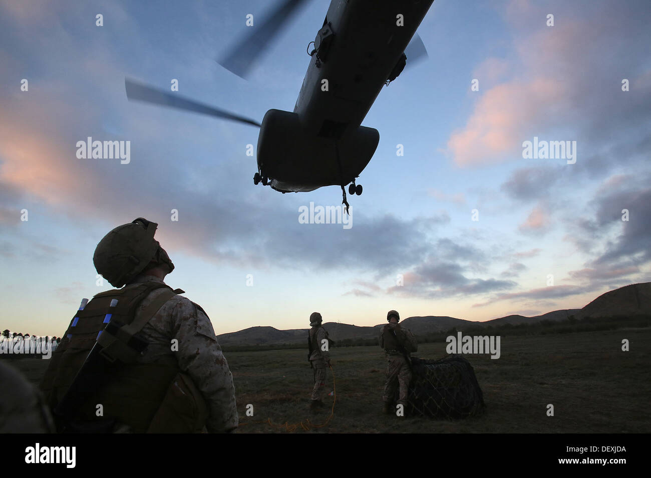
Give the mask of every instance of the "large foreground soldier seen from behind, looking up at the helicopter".
[[41, 388], [59, 431], [238, 426], [233, 378], [210, 319], [163, 282], [174, 264], [154, 240], [157, 226], [135, 219], [95, 249], [97, 272], [124, 287], [84, 299], [52, 355]]

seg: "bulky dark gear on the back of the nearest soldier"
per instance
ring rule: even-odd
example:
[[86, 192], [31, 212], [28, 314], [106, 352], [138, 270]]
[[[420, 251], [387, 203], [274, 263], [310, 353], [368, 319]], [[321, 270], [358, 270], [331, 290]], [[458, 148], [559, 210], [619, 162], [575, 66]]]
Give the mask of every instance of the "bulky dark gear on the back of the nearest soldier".
[[[135, 320], [138, 306], [165, 288]], [[75, 418], [92, 423], [90, 431], [111, 431], [111, 419], [97, 419], [96, 404], [113, 422], [134, 431], [147, 431], [157, 410], [180, 373], [176, 360], [137, 364], [147, 343], [139, 337], [148, 321], [180, 289], [159, 282], [143, 282], [99, 293], [82, 304], [70, 321], [64, 338], [53, 352], [41, 389], [55, 411], [59, 429]]]

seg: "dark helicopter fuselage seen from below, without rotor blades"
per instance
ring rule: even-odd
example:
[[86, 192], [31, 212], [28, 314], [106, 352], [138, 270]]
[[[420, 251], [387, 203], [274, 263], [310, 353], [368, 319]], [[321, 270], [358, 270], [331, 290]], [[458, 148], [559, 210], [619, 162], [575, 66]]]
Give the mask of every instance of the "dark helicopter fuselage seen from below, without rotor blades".
[[273, 189], [305, 192], [355, 181], [380, 141], [361, 122], [400, 72], [433, 1], [331, 1], [294, 111], [271, 109], [262, 120], [258, 171]]

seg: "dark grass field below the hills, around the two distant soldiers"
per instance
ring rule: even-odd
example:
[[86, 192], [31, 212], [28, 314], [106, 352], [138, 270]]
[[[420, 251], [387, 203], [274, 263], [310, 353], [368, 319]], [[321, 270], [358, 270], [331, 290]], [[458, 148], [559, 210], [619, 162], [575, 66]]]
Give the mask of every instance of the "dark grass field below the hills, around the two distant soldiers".
[[[622, 339], [630, 341], [623, 352]], [[240, 422], [238, 432], [303, 432], [301, 421], [326, 421], [329, 408], [309, 414], [312, 371], [303, 350], [227, 352]], [[445, 343], [421, 345], [414, 356], [440, 358]], [[572, 334], [502, 336], [501, 357], [469, 355], [484, 392], [484, 415], [442, 420], [381, 414], [385, 364], [380, 347], [331, 350], [337, 401], [316, 432], [650, 432], [651, 328]], [[47, 360], [5, 359], [37, 383]], [[332, 390], [328, 370], [327, 392]], [[332, 405], [333, 397], [326, 397]], [[547, 416], [547, 404], [554, 416]], [[247, 404], [254, 416], [246, 416]], [[256, 423], [271, 419], [274, 425]]]

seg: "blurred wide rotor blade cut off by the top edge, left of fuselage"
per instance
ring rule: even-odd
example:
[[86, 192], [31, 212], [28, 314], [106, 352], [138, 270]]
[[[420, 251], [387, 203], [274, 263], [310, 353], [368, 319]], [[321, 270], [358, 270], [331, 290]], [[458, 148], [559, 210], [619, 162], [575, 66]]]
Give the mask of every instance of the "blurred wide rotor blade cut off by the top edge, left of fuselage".
[[264, 50], [270, 46], [273, 38], [281, 31], [284, 22], [290, 20], [298, 11], [298, 7], [309, 0], [283, 0], [279, 7], [272, 10], [265, 20], [256, 25], [254, 18], [253, 31], [243, 36], [227, 54], [220, 57], [217, 62], [229, 72], [235, 73], [241, 78], [253, 66], [253, 62], [262, 55]]

